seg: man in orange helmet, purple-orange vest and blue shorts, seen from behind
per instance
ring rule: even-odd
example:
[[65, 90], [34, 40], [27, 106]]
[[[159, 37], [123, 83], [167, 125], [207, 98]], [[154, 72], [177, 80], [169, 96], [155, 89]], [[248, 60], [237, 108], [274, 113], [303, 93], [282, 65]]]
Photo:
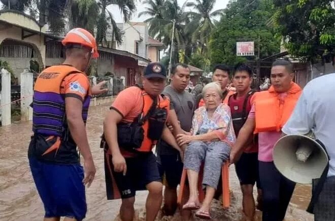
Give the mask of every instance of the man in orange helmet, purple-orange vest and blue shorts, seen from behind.
[[[33, 136], [29, 165], [45, 208], [44, 220], [82, 220], [87, 206], [85, 186], [91, 185], [95, 166], [85, 123], [91, 94], [103, 93], [104, 83], [90, 88], [85, 70], [99, 56], [95, 39], [82, 28], [70, 30], [64, 40], [62, 65], [41, 72], [33, 94]], [[84, 158], [80, 165], [77, 146]]]

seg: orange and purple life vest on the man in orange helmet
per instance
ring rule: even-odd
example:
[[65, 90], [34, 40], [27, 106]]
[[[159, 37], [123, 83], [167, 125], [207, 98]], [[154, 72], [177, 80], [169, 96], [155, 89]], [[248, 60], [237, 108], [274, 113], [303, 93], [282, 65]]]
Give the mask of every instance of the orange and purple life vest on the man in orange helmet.
[[[83, 72], [73, 66], [57, 65], [48, 67], [40, 73], [35, 83], [32, 103], [32, 128], [35, 133], [59, 137], [64, 135], [62, 133], [66, 124], [65, 99], [60, 93], [60, 86], [63, 79], [71, 73]], [[87, 119], [89, 103], [90, 96], [87, 93], [82, 110], [84, 122]]]

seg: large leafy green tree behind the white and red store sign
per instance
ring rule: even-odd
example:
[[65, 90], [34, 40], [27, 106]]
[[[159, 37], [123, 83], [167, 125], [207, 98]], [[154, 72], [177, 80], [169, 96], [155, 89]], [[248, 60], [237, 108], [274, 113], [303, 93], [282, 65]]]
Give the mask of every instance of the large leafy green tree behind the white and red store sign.
[[224, 13], [210, 39], [212, 65], [234, 66], [248, 59], [255, 60], [256, 56], [236, 56], [236, 43], [240, 41], [254, 41], [255, 55], [259, 46], [260, 58], [279, 53], [280, 40], [275, 37], [274, 28], [266, 25], [274, 13], [271, 1], [230, 1]]

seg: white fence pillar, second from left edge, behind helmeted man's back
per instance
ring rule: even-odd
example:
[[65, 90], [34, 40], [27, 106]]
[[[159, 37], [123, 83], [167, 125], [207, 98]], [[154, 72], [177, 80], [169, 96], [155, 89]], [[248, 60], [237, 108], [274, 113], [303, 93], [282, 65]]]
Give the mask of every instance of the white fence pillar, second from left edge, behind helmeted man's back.
[[32, 102], [33, 88], [32, 88], [32, 73], [26, 69], [21, 73], [21, 121], [32, 120]]

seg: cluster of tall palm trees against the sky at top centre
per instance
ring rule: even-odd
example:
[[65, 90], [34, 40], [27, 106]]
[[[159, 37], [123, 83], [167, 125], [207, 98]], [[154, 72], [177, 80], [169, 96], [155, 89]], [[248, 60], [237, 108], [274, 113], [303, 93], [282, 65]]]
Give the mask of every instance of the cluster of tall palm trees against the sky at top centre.
[[[212, 12], [215, 2], [216, 0], [196, 0], [180, 6], [177, 0], [146, 0], [142, 2], [146, 5], [145, 11], [139, 16], [150, 16], [145, 21], [149, 23], [149, 34], [168, 46], [168, 54], [175, 21], [172, 63], [188, 63], [197, 49], [200, 50], [197, 53], [207, 57], [210, 32], [215, 27], [213, 18], [222, 12]], [[187, 7], [191, 12], [186, 12]]]

